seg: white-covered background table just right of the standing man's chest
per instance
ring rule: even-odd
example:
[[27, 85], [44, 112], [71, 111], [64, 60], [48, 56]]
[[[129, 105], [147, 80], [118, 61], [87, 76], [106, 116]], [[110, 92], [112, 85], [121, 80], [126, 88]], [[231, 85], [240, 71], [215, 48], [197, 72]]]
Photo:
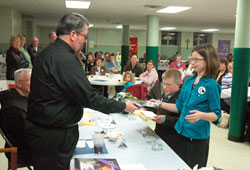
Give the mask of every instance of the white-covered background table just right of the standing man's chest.
[[[122, 80], [122, 74], [109, 74], [105, 76], [91, 75], [88, 76], [89, 82], [92, 85], [100, 86], [124, 86], [125, 82]], [[135, 84], [141, 84], [142, 81], [139, 78], [135, 78]]]

